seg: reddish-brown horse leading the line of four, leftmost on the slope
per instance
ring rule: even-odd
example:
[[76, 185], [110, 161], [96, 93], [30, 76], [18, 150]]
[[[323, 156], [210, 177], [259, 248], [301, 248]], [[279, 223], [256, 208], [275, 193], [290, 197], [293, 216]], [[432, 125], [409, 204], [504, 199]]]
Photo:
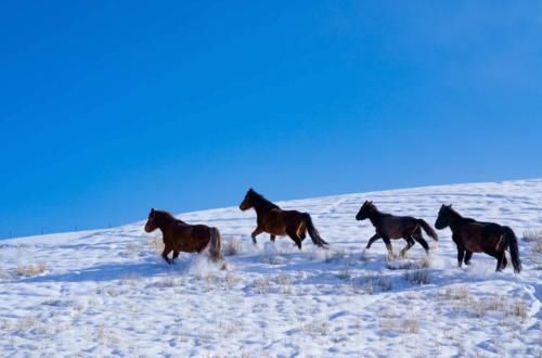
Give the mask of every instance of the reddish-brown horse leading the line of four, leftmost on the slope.
[[[149, 214], [145, 231], [153, 232], [156, 229], [160, 229], [164, 240], [162, 257], [170, 265], [173, 264], [180, 252], [202, 253], [207, 246], [210, 246], [209, 256], [214, 261], [222, 259], [222, 240], [217, 228], [205, 225], [189, 225], [176, 219], [167, 212], [153, 208]], [[168, 257], [170, 252], [173, 252], [173, 258]]]

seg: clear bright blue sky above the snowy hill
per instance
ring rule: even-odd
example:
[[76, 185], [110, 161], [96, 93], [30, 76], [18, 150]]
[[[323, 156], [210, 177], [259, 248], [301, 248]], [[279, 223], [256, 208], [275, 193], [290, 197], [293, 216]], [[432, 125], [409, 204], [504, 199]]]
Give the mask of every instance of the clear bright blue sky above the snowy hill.
[[542, 175], [539, 1], [3, 1], [0, 238]]

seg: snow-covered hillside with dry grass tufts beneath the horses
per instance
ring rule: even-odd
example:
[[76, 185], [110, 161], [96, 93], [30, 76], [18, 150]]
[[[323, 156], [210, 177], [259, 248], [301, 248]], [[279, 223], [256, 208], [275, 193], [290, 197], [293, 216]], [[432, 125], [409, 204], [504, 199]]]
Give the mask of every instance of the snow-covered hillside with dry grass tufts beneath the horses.
[[[218, 227], [225, 246], [241, 244], [227, 271], [188, 254], [167, 266], [144, 221], [4, 240], [1, 356], [541, 357], [535, 242], [520, 239], [520, 274], [509, 267], [495, 273], [495, 260], [481, 254], [459, 269], [449, 230], [439, 231], [438, 246], [431, 242], [429, 260], [416, 244], [408, 259], [388, 263], [382, 241], [363, 251], [373, 228], [354, 215], [365, 199], [431, 225], [440, 204], [453, 203], [518, 238], [542, 230], [539, 179], [279, 203], [311, 213], [328, 251], [307, 239], [299, 252], [289, 239], [274, 245], [266, 234], [254, 247], [255, 214], [237, 207], [180, 215]], [[392, 244], [398, 252], [404, 242]]]

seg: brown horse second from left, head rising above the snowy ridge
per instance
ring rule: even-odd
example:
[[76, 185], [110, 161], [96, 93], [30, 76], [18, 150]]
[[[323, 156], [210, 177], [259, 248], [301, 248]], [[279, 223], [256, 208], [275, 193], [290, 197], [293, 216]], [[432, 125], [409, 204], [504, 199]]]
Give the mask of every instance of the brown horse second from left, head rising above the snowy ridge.
[[271, 241], [273, 242], [276, 236], [288, 235], [294, 240], [297, 247], [301, 250], [301, 242], [307, 236], [307, 231], [309, 231], [314, 245], [320, 247], [328, 245], [320, 236], [317, 228], [314, 228], [309, 214], [296, 210], [283, 210], [253, 189], [248, 190], [238, 207], [243, 212], [253, 207], [256, 210], [257, 227], [251, 234], [255, 245], [257, 243], [256, 236], [262, 232], [267, 232], [271, 235]]

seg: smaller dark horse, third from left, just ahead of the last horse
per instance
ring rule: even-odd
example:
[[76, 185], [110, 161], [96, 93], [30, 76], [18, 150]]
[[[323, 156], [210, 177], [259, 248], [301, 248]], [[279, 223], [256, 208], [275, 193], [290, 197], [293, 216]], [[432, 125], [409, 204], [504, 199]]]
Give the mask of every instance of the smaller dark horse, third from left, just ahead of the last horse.
[[429, 245], [422, 235], [422, 229], [438, 241], [437, 232], [423, 219], [417, 219], [412, 216], [395, 216], [391, 214], [380, 213], [373, 202], [365, 201], [361, 206], [356, 220], [370, 219], [371, 223], [375, 227], [376, 233], [369, 240], [366, 248], [378, 239], [384, 240], [388, 254], [393, 257], [393, 250], [391, 248], [390, 239], [404, 239], [406, 246], [401, 250], [401, 256], [415, 244], [417, 241], [424, 246], [426, 254], [429, 254]]

